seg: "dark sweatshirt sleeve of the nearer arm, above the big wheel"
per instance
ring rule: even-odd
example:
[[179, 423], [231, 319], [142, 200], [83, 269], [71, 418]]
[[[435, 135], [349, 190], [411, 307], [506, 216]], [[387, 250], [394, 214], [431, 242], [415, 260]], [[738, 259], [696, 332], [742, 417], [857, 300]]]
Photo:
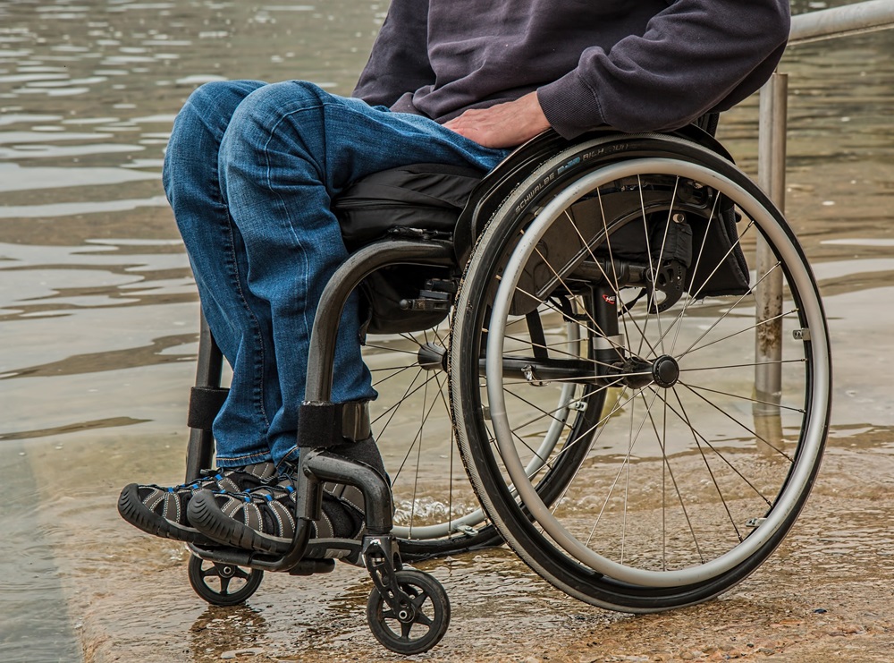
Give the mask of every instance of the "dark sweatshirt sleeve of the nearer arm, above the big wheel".
[[642, 36], [537, 90], [552, 127], [573, 138], [600, 124], [623, 132], [675, 129], [734, 106], [769, 79], [789, 38], [788, 0], [676, 0]]

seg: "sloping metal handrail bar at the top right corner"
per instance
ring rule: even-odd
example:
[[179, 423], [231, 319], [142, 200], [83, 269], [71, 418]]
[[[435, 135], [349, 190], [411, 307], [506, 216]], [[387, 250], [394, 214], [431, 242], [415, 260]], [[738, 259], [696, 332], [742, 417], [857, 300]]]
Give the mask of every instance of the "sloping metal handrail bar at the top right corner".
[[789, 46], [894, 28], [894, 0], [868, 0], [793, 16]]

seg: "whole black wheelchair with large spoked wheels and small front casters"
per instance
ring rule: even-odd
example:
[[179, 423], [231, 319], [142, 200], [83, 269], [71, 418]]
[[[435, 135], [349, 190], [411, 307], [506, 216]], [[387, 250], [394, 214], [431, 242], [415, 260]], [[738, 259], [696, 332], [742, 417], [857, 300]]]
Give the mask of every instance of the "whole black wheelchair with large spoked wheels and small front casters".
[[[198, 594], [240, 603], [264, 571], [339, 558], [372, 576], [376, 639], [413, 654], [441, 640], [450, 603], [407, 561], [505, 541], [561, 591], [633, 613], [755, 571], [816, 478], [831, 351], [795, 234], [712, 134], [546, 132], [461, 209], [395, 205], [346, 233], [313, 327], [291, 551], [190, 546]], [[772, 259], [749, 268], [759, 244]], [[382, 395], [367, 406], [331, 402], [355, 290]], [[221, 372], [203, 319], [187, 480], [212, 466]], [[755, 377], [768, 373], [772, 387]], [[387, 478], [328, 450], [370, 430]], [[309, 540], [322, 491], [341, 485], [365, 499], [363, 539]]]

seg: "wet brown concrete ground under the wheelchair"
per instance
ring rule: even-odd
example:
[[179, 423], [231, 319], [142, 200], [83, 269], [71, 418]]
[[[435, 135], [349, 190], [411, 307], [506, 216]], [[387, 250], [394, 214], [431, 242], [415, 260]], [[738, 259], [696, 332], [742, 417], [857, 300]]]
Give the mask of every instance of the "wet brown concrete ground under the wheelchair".
[[[412, 659], [888, 661], [891, 433], [838, 430], [794, 533], [753, 576], [700, 606], [645, 616], [592, 608], [553, 590], [505, 548], [419, 565], [443, 582], [453, 613], [443, 642]], [[40, 492], [42, 544], [55, 550], [59, 594], [46, 597], [46, 609], [80, 641], [85, 660], [401, 659], [368, 632], [371, 583], [348, 565], [310, 578], [267, 574], [246, 606], [207, 606], [187, 582], [187, 551], [140, 534], [109, 508], [122, 475], [139, 471], [133, 458], [153, 454], [157, 440], [128, 440], [126, 453], [119, 443], [35, 445], [24, 456]], [[175, 480], [179, 453], [161, 456]], [[60, 495], [58, 477], [72, 464], [95, 472], [73, 477]], [[7, 578], [32, 570], [39, 573], [26, 560], [7, 567]]]

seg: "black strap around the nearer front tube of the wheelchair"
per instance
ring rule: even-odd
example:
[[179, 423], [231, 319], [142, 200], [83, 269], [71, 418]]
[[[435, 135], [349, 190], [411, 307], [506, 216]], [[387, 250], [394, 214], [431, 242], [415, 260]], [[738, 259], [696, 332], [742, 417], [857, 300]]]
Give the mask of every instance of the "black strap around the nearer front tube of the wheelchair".
[[305, 401], [298, 415], [298, 446], [328, 448], [359, 442], [370, 436], [367, 401], [327, 403]]

